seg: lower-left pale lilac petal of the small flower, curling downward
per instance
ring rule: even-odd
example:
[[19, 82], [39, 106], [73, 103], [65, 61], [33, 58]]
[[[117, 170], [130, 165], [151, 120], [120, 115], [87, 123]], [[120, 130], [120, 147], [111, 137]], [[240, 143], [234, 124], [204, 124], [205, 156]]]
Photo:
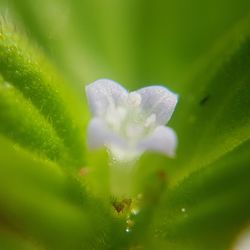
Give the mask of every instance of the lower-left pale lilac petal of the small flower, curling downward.
[[87, 132], [87, 142], [88, 146], [92, 149], [109, 144], [117, 145], [121, 148], [127, 146], [126, 141], [110, 130], [106, 123], [100, 118], [93, 118], [90, 121]]

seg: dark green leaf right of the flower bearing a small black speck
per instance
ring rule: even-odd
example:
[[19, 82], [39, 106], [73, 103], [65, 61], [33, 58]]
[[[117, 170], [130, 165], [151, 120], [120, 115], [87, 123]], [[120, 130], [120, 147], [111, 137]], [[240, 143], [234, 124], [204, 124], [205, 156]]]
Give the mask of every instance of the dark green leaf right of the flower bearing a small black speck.
[[[180, 101], [179, 108], [183, 109], [173, 122], [180, 137], [174, 182], [249, 139], [248, 23], [249, 18], [244, 19], [219, 42], [220, 47], [224, 45], [220, 53], [210, 57], [208, 66], [194, 78], [193, 87]], [[207, 71], [210, 73], [204, 77]]]

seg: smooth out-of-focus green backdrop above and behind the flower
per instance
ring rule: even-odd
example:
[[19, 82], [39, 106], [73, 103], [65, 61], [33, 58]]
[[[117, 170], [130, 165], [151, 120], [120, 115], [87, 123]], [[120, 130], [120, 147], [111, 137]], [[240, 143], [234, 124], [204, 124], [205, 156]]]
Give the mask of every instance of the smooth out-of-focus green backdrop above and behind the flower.
[[1, 0], [72, 84], [100, 77], [130, 89], [166, 84], [181, 92], [248, 0]]

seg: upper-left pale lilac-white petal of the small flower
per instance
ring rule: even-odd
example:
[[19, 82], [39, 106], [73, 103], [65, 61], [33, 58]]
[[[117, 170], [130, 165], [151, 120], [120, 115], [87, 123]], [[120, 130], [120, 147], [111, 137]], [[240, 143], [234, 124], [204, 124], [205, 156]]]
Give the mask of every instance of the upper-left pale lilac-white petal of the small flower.
[[125, 88], [109, 79], [99, 79], [87, 85], [86, 93], [94, 116], [103, 116], [108, 109], [123, 105], [128, 96]]

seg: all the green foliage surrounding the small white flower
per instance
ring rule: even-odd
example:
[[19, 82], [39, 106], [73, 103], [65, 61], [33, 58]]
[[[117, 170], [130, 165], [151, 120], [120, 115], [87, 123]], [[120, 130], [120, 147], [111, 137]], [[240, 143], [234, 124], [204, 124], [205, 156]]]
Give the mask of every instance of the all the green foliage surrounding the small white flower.
[[[232, 248], [250, 222], [250, 6], [184, 2], [1, 3], [1, 249]], [[180, 93], [177, 158], [145, 154], [128, 197], [85, 148], [98, 77]]]

